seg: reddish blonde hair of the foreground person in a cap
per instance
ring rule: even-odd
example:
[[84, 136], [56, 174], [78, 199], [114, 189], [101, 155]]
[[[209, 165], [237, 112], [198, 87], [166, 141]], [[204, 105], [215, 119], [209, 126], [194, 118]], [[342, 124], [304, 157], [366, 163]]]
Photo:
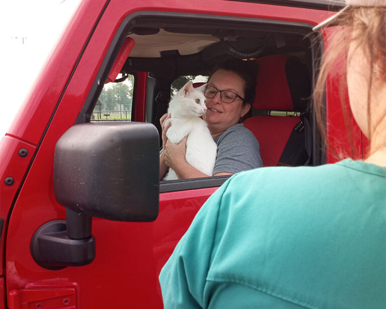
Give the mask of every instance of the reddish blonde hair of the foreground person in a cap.
[[[351, 43], [355, 43], [357, 48], [361, 48], [369, 63], [370, 78], [368, 81], [367, 94], [367, 119], [370, 124], [370, 104], [371, 86], [373, 82], [373, 72], [377, 78], [386, 82], [386, 8], [380, 7], [352, 7], [345, 13], [337, 17], [336, 22], [339, 26], [331, 37], [331, 42], [322, 58], [320, 64], [319, 77], [315, 86], [315, 109], [316, 118], [323, 139], [326, 141], [326, 130], [323, 126], [323, 95], [327, 80], [327, 75], [337, 64], [338, 59], [345, 59], [347, 50]], [[347, 59], [346, 61], [350, 61]], [[343, 68], [344, 77], [346, 76], [346, 65]], [[347, 133], [351, 136], [351, 121], [349, 112], [345, 105], [345, 90], [347, 87], [346, 78], [341, 80], [340, 97], [342, 112], [345, 118]], [[370, 127], [370, 125], [369, 125]], [[369, 132], [369, 141], [371, 145], [372, 131]], [[354, 156], [354, 146], [350, 138], [351, 156]], [[329, 145], [328, 145], [329, 146]], [[331, 147], [329, 146], [331, 149]], [[334, 153], [333, 154], [339, 157]]]

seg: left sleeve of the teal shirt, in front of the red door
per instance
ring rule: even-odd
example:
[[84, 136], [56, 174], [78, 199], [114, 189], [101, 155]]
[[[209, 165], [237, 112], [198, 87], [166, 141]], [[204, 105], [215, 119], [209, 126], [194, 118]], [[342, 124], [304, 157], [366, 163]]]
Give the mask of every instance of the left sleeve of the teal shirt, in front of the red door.
[[[232, 179], [232, 177], [230, 178]], [[159, 275], [164, 308], [205, 307], [205, 286], [221, 199], [230, 179], [201, 207]]]

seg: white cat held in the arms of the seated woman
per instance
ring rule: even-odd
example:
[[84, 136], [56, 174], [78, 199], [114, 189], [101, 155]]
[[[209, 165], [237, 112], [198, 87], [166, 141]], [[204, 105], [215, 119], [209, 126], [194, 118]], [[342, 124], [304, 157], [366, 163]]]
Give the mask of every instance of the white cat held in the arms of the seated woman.
[[[207, 111], [205, 105], [204, 88], [194, 88], [191, 82], [183, 86], [169, 102], [168, 121], [171, 126], [166, 132], [167, 138], [174, 144], [187, 136], [186, 162], [200, 172], [212, 176], [215, 167], [217, 145], [209, 132], [207, 123], [200, 118]], [[172, 169], [163, 180], [178, 179]]]

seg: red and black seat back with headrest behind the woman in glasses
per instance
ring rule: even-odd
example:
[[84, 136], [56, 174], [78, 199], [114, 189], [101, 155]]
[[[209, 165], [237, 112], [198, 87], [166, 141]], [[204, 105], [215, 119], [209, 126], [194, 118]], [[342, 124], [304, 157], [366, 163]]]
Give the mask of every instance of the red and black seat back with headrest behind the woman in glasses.
[[[256, 99], [252, 117], [244, 125], [259, 141], [263, 165], [308, 164], [311, 129], [305, 113], [310, 96], [307, 67], [288, 55], [263, 57], [257, 62]], [[286, 116], [273, 116], [272, 111], [282, 111]], [[253, 116], [259, 112], [266, 115]]]

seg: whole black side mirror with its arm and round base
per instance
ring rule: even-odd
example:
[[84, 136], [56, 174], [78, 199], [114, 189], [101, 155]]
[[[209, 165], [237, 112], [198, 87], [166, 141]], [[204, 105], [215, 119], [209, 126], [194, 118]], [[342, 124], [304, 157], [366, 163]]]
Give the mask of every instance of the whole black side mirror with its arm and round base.
[[159, 205], [159, 135], [139, 122], [86, 123], [55, 146], [54, 191], [66, 221], [43, 224], [31, 241], [47, 269], [89, 264], [95, 257], [92, 217], [149, 222]]

